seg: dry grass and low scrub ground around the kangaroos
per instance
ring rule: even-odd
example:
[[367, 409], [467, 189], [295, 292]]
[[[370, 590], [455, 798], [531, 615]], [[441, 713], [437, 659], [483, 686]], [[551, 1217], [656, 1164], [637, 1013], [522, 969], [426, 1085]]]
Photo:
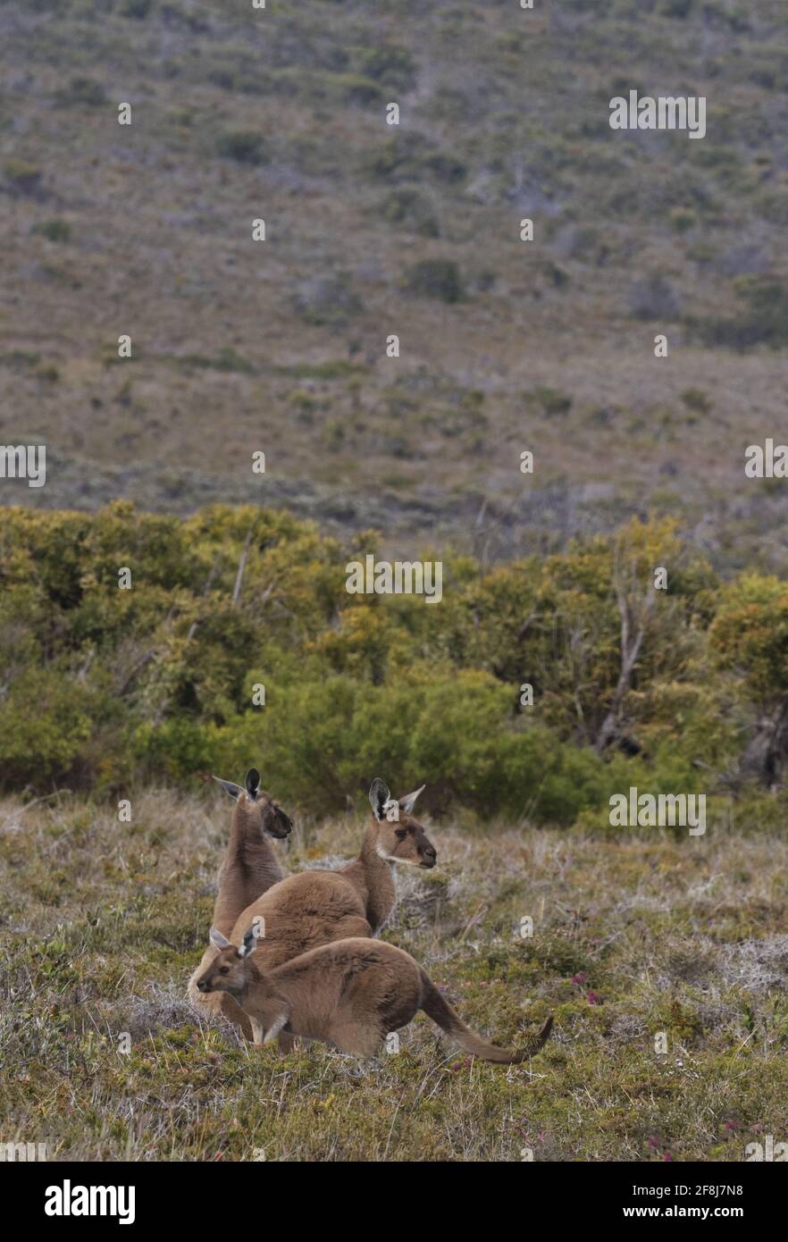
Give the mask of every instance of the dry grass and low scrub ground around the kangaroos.
[[[423, 1016], [366, 1063], [279, 1059], [195, 1017], [227, 820], [168, 791], [132, 825], [67, 797], [0, 806], [0, 1139], [77, 1160], [738, 1160], [786, 1136], [784, 840], [432, 826], [439, 871], [400, 873], [386, 938], [501, 1043], [556, 1015], [506, 1071]], [[347, 857], [361, 827], [298, 823], [285, 866]]]

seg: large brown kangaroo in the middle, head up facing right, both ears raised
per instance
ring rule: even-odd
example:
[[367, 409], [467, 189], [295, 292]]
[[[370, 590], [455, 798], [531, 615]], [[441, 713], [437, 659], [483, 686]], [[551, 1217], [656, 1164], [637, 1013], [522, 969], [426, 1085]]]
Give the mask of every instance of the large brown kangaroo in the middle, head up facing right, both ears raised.
[[[426, 868], [436, 864], [434, 847], [411, 816], [423, 787], [397, 801], [376, 776], [370, 787], [375, 820], [364, 835], [356, 861], [339, 871], [315, 867], [288, 876], [238, 915], [231, 939], [240, 943], [249, 923], [262, 919], [266, 930], [257, 946], [257, 961], [261, 970], [273, 970], [320, 944], [377, 935], [397, 898], [393, 863]], [[226, 928], [218, 930], [228, 934]]]

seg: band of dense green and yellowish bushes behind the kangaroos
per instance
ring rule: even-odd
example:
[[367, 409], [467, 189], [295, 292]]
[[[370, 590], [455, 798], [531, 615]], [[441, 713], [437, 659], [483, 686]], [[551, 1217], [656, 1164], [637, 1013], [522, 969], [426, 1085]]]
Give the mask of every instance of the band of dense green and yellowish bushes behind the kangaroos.
[[119, 792], [254, 758], [318, 815], [385, 771], [427, 780], [433, 810], [572, 823], [629, 785], [779, 785], [784, 582], [723, 584], [654, 520], [504, 565], [449, 550], [438, 605], [349, 595], [375, 545], [251, 507], [4, 509], [4, 786]]

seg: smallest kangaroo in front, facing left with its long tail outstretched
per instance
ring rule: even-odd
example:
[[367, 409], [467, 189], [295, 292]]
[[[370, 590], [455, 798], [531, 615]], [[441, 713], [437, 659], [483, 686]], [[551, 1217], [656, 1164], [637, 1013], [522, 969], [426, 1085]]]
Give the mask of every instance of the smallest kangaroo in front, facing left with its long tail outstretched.
[[351, 936], [261, 971], [254, 964], [259, 935], [261, 925], [252, 924], [236, 946], [212, 928], [218, 953], [197, 980], [201, 992], [225, 991], [237, 1000], [257, 1045], [284, 1031], [371, 1057], [391, 1031], [407, 1026], [419, 1010], [467, 1052], [498, 1064], [520, 1064], [550, 1038], [552, 1017], [520, 1052], [488, 1043], [465, 1026], [410, 953], [385, 940]]

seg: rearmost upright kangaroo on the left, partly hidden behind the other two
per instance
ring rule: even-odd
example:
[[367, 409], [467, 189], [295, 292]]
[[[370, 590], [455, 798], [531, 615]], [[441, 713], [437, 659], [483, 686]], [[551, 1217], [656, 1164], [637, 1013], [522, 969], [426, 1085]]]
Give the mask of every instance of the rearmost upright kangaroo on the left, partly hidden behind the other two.
[[[213, 927], [230, 935], [238, 914], [256, 897], [282, 879], [282, 868], [269, 838], [282, 840], [289, 836], [293, 823], [271, 795], [261, 789], [259, 773], [256, 768], [251, 768], [246, 775], [246, 789], [218, 776], [213, 780], [218, 781], [236, 802], [213, 904]], [[216, 949], [212, 946], [202, 954], [202, 961], [189, 981], [189, 999], [202, 1010], [223, 1013], [241, 1026], [251, 1040], [249, 1020], [232, 996], [228, 994], [204, 996], [197, 991], [196, 980], [215, 956]]]

